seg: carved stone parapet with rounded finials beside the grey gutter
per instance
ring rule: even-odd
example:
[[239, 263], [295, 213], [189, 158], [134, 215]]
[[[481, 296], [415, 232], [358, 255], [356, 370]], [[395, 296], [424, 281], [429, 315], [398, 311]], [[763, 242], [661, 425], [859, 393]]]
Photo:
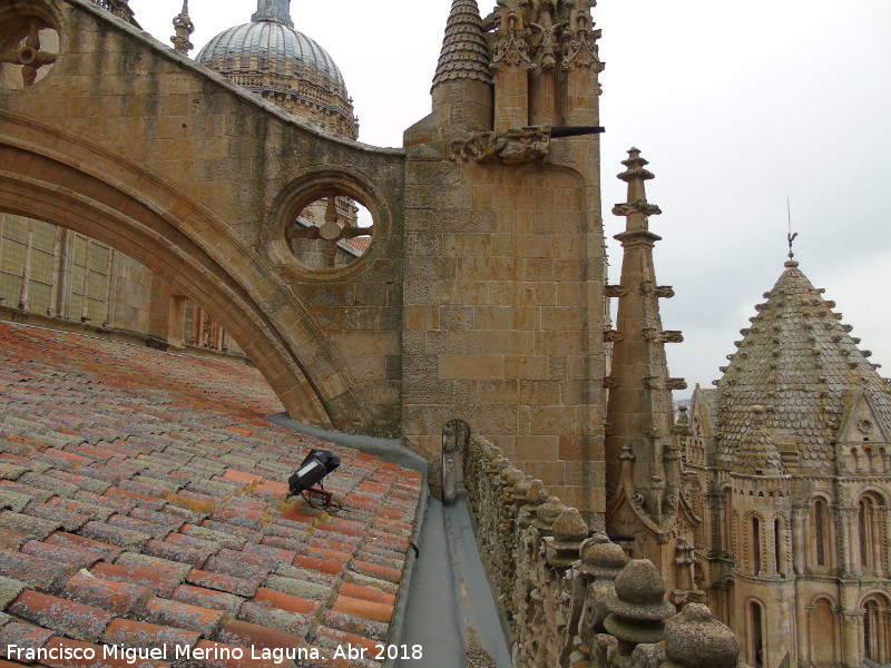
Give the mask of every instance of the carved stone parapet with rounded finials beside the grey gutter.
[[653, 562], [629, 560], [575, 508], [473, 436], [463, 453], [477, 541], [513, 666], [741, 667], [733, 632], [701, 603], [676, 613]]

